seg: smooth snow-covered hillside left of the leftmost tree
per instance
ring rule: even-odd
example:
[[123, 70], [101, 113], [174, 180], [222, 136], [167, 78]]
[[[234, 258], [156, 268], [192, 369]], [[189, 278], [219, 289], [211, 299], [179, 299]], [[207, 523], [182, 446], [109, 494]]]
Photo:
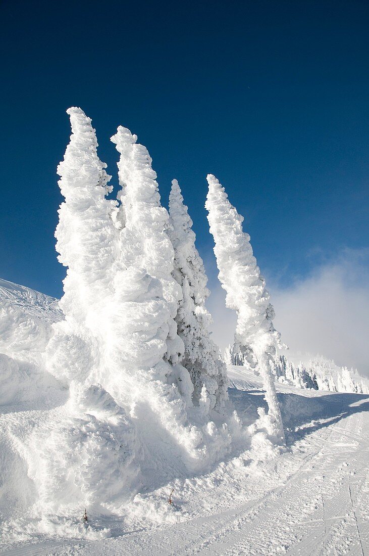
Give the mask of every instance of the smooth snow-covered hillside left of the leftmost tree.
[[[25, 438], [62, 403], [65, 391], [44, 368], [57, 300], [0, 280], [0, 521], [22, 513], [33, 498]], [[6, 530], [0, 533], [4, 538]]]

